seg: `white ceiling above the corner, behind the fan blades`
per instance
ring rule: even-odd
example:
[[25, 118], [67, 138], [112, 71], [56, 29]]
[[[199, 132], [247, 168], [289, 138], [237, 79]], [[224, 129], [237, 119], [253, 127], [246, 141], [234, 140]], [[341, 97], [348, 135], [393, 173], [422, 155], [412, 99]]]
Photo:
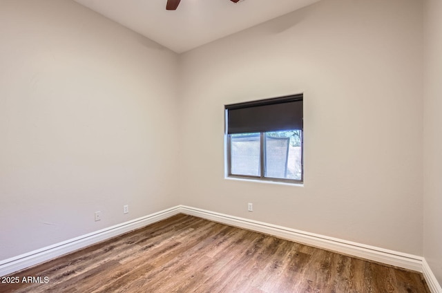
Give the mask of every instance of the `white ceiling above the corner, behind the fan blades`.
[[75, 0], [117, 23], [183, 53], [319, 0]]

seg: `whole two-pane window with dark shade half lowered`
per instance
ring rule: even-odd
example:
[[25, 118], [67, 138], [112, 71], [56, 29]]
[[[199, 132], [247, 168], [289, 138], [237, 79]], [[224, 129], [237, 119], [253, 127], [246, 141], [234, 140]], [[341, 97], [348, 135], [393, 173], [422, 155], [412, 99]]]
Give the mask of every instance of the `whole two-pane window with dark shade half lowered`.
[[225, 106], [229, 177], [302, 182], [302, 94]]

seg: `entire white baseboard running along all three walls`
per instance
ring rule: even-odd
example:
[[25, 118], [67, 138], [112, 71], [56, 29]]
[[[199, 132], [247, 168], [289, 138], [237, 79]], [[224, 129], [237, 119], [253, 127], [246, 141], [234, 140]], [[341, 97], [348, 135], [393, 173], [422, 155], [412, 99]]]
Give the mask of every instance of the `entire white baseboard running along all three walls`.
[[430, 291], [432, 293], [442, 293], [441, 285], [439, 285], [439, 283], [437, 282], [436, 277], [432, 273], [432, 270], [425, 261], [425, 258], [423, 258], [422, 256], [395, 252], [389, 249], [364, 245], [361, 243], [354, 243], [347, 240], [313, 234], [278, 225], [272, 225], [269, 223], [258, 222], [256, 220], [229, 216], [227, 214], [220, 214], [213, 211], [198, 209], [195, 207], [187, 207], [184, 205], [178, 205], [176, 207], [171, 207], [170, 209], [164, 209], [163, 211], [158, 211], [157, 213], [150, 214], [142, 218], [137, 218], [126, 223], [115, 225], [113, 227], [108, 227], [106, 229], [66, 240], [55, 245], [50, 245], [48, 247], [37, 249], [27, 254], [21, 254], [13, 258], [8, 258], [6, 260], [0, 261], [0, 276], [5, 276], [13, 272], [18, 272], [19, 270], [23, 270], [26, 267], [30, 267], [32, 265], [44, 263], [45, 261], [49, 261], [52, 258], [68, 254], [69, 252], [74, 252], [77, 249], [99, 243], [100, 241], [106, 240], [108, 238], [124, 234], [128, 231], [139, 229], [146, 225], [150, 225], [152, 223], [164, 220], [180, 213], [191, 216], [198, 216], [200, 218], [213, 220], [215, 222], [223, 223], [226, 225], [241, 227], [252, 231], [258, 231], [279, 238], [292, 240], [298, 243], [312, 245], [314, 247], [329, 249], [341, 254], [347, 254], [349, 256], [356, 256], [368, 259], [370, 261], [376, 261], [378, 263], [385, 263], [387, 265], [394, 265], [396, 267], [403, 267], [408, 270], [422, 272], [428, 287], [430, 287]]

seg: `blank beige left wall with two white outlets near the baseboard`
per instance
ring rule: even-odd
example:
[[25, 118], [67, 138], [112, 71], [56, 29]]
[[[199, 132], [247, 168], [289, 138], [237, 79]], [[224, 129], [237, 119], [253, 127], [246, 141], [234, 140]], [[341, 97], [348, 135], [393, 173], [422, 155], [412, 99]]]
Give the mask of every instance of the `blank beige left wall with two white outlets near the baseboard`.
[[0, 39], [0, 259], [176, 205], [175, 53], [66, 0]]

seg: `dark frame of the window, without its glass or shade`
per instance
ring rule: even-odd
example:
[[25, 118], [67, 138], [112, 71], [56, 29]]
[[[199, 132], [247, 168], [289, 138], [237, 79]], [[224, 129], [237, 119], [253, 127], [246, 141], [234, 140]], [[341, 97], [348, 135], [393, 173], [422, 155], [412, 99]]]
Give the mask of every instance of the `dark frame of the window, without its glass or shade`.
[[[276, 100], [287, 100], [287, 98], [296, 98], [296, 100], [303, 100], [303, 95], [290, 95], [280, 98], [272, 98], [267, 100], [258, 100], [249, 102], [250, 104], [268, 104], [271, 101]], [[232, 164], [231, 164], [231, 135], [228, 133], [228, 111], [229, 109], [227, 106], [224, 108], [224, 135], [225, 135], [225, 155], [227, 159], [227, 177], [228, 178], [239, 178], [239, 179], [248, 179], [248, 180], [259, 180], [259, 181], [271, 181], [271, 182], [285, 182], [285, 183], [291, 183], [291, 184], [303, 184], [304, 183], [304, 126], [302, 125], [301, 129], [293, 129], [300, 131], [300, 147], [301, 147], [301, 178], [298, 179], [289, 179], [289, 178], [273, 178], [273, 177], [267, 177], [265, 176], [265, 135], [267, 132], [275, 132], [275, 131], [257, 131], [257, 133], [260, 133], [260, 176], [251, 176], [251, 175], [241, 175], [241, 174], [233, 174], [231, 172]], [[302, 120], [303, 120], [303, 113], [302, 113]], [[284, 130], [282, 130], [284, 131]]]

